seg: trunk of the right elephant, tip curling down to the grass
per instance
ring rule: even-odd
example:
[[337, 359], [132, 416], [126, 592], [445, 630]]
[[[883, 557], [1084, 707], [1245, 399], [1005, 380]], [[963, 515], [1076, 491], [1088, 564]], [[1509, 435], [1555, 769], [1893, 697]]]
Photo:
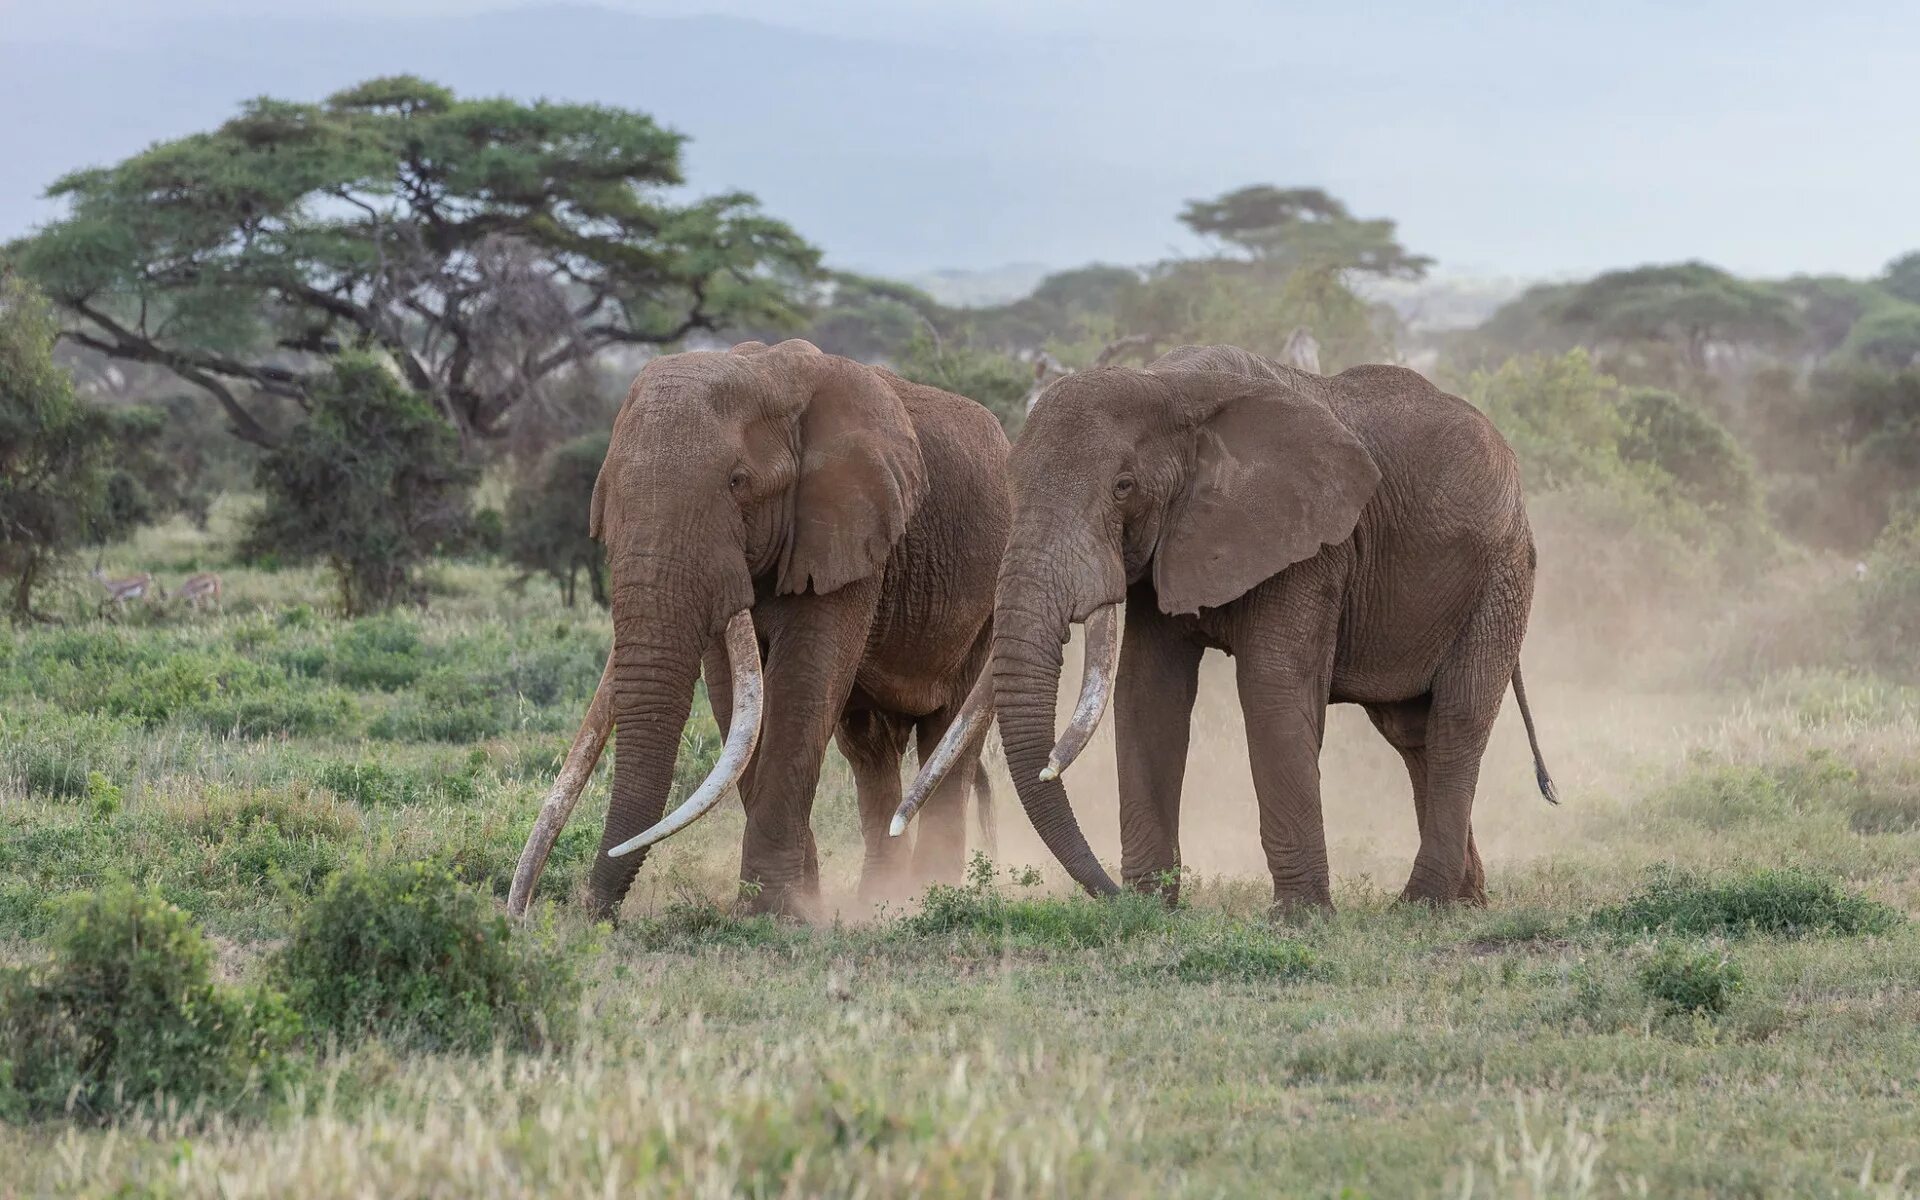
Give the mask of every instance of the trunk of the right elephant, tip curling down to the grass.
[[1037, 572], [1020, 570], [1008, 559], [993, 618], [993, 695], [1006, 766], [1041, 841], [1075, 883], [1092, 895], [1114, 895], [1119, 889], [1087, 845], [1058, 770], [1048, 772], [1060, 647], [1073, 616], [1069, 603], [1062, 589], [1048, 588]]

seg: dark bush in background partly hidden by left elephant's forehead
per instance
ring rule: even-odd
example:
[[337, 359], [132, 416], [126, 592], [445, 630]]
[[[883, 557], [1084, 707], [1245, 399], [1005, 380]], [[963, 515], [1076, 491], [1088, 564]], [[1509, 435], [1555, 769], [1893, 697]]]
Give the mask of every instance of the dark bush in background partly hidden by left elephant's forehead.
[[507, 499], [507, 561], [547, 574], [574, 605], [574, 586], [588, 576], [593, 603], [611, 605], [607, 551], [588, 536], [593, 482], [607, 461], [609, 434], [586, 434], [557, 445]]

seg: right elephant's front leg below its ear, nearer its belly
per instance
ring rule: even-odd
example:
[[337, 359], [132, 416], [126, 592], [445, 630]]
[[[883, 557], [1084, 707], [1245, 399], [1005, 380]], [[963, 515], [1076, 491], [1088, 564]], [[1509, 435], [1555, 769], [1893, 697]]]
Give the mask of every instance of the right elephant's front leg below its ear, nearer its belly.
[[1332, 908], [1319, 753], [1340, 609], [1336, 589], [1304, 576], [1296, 568], [1261, 586], [1235, 643], [1260, 847], [1277, 914]]

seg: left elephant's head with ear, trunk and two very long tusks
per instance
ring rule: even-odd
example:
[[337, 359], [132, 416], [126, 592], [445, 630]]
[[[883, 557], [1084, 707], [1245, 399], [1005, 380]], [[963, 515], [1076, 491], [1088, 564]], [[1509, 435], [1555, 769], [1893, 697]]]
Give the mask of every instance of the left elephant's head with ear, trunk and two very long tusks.
[[[877, 371], [806, 342], [749, 342], [645, 365], [614, 419], [589, 516], [607, 545], [612, 653], [588, 728], [520, 856], [515, 910], [609, 724], [618, 728], [618, 755], [589, 904], [618, 906], [645, 852], [607, 851], [643, 849], [682, 828], [747, 764], [760, 720], [755, 597], [828, 593], [883, 570], [924, 493], [920, 442]], [[728, 745], [695, 797], [639, 839], [666, 804], [701, 657], [714, 639], [724, 639], [733, 676]]]

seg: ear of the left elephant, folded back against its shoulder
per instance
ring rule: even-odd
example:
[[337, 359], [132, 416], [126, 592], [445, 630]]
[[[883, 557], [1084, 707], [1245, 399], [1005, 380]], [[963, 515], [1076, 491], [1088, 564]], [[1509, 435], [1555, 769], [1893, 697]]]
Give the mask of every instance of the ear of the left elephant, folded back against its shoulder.
[[885, 566], [925, 497], [927, 468], [906, 405], [885, 376], [820, 351], [793, 367], [812, 394], [799, 415], [801, 478], [780, 591], [828, 593]]

